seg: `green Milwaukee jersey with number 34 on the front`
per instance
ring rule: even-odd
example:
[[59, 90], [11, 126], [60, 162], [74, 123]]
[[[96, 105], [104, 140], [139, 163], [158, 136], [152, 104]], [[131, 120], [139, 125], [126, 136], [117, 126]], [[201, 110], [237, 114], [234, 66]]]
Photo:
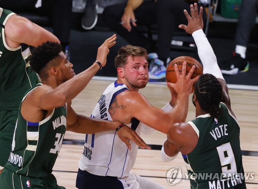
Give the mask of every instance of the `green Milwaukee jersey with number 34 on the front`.
[[[29, 90], [24, 96], [33, 91]], [[5, 168], [20, 175], [42, 178], [52, 172], [66, 132], [66, 105], [40, 122], [26, 121], [21, 115], [21, 105], [15, 126], [12, 151]]]

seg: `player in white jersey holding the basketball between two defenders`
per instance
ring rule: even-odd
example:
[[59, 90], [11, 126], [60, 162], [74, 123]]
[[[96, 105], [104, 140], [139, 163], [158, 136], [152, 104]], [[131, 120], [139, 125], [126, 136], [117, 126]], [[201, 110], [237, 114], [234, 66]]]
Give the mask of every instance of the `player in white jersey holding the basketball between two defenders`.
[[[190, 79], [195, 66], [186, 76], [186, 62], [183, 73], [178, 73], [177, 83], [170, 85], [171, 101], [159, 109], [150, 105], [138, 91], [148, 82], [147, 51], [142, 47], [122, 47], [115, 58], [117, 80], [101, 95], [91, 117], [106, 120], [120, 120], [129, 125], [138, 135], [151, 133], [154, 129], [165, 134], [171, 125], [185, 121], [188, 111], [188, 97], [193, 83]], [[176, 67], [177, 68], [177, 67]], [[177, 94], [177, 95], [176, 95]], [[173, 109], [172, 109], [172, 106]], [[146, 125], [145, 125], [146, 124]], [[150, 127], [148, 127], [149, 125]], [[153, 128], [153, 129], [152, 129]], [[87, 134], [76, 187], [82, 188], [164, 188], [157, 183], [130, 173], [137, 155], [137, 146], [131, 141], [132, 150], [120, 142], [116, 131]]]

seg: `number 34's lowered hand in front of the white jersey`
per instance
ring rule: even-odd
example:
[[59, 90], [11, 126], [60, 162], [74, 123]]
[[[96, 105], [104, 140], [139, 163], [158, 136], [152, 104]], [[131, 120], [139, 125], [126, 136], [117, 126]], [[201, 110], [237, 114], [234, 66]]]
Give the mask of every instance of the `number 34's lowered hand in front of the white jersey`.
[[123, 126], [121, 129], [117, 131], [118, 137], [121, 139], [121, 141], [125, 142], [126, 146], [129, 150], [131, 150], [131, 144], [128, 140], [132, 140], [135, 142], [136, 145], [140, 146], [141, 148], [147, 148], [151, 149], [150, 146], [148, 146], [141, 137], [137, 135], [137, 133], [128, 127], [127, 125]]

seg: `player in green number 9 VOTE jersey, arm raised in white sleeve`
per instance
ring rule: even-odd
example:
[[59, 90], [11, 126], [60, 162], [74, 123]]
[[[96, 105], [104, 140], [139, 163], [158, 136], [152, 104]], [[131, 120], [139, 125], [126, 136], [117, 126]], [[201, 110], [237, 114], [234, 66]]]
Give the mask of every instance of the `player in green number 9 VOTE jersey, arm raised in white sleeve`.
[[228, 88], [216, 56], [203, 33], [202, 7], [186, 10], [188, 25], [180, 25], [192, 34], [203, 63], [203, 75], [194, 85], [193, 104], [196, 119], [176, 123], [169, 129], [162, 147], [162, 159], [183, 155], [191, 188], [246, 188], [240, 149], [238, 121], [231, 109]]

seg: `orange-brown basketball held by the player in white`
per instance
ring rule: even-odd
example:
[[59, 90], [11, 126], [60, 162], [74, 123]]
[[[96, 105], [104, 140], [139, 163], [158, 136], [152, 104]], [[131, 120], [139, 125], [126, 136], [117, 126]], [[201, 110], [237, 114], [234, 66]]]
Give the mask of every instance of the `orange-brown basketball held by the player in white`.
[[[174, 60], [172, 60], [167, 66], [167, 70], [166, 70], [166, 81], [167, 82], [176, 83], [176, 73], [175, 73], [174, 65], [177, 64], [179, 72], [182, 72], [182, 67], [183, 67], [184, 61], [186, 61], [186, 75], [189, 73], [189, 71], [191, 70], [193, 65], [196, 66], [191, 79], [202, 74], [203, 67], [200, 64], [200, 62], [198, 62], [196, 59], [194, 59], [190, 56], [179, 56], [179, 57], [175, 58]], [[192, 87], [192, 92], [193, 92], [193, 90], [194, 90], [194, 86]]]

